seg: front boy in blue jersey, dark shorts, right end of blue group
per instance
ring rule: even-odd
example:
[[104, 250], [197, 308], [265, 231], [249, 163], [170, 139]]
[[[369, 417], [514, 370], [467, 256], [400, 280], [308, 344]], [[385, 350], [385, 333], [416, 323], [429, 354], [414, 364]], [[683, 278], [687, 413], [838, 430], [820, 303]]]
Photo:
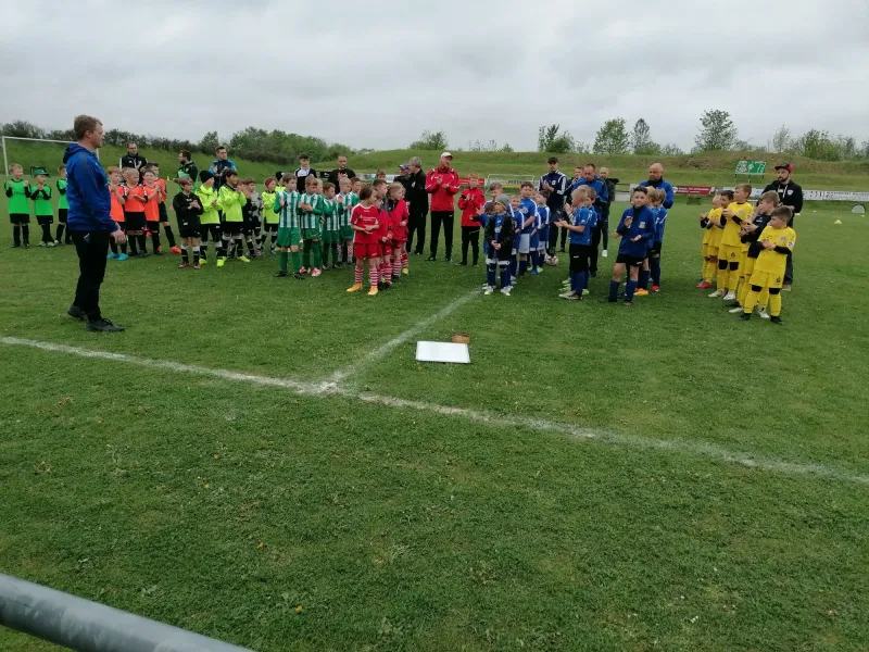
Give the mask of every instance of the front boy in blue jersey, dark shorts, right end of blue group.
[[628, 284], [625, 290], [625, 305], [633, 305], [633, 293], [640, 268], [645, 262], [646, 242], [655, 238], [655, 225], [652, 212], [645, 205], [648, 201], [648, 191], [638, 186], [631, 195], [631, 205], [622, 214], [618, 223], [616, 235], [621, 238], [618, 246], [618, 258], [613, 265], [613, 279], [609, 281], [609, 296], [601, 299], [601, 303], [616, 303], [618, 301], [618, 286], [621, 274], [628, 267]]

